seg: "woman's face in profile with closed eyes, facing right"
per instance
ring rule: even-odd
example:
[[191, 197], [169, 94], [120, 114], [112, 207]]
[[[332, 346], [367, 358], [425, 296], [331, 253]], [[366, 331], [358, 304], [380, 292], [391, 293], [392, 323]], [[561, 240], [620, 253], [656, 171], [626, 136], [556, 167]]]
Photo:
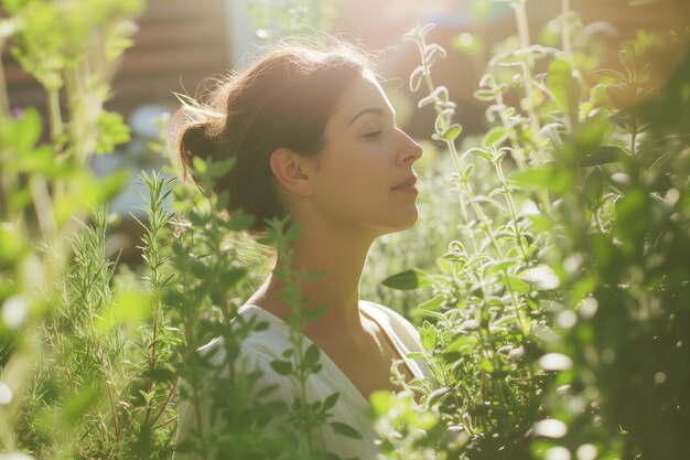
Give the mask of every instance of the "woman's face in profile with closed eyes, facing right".
[[417, 190], [396, 186], [412, 179], [422, 149], [395, 121], [390, 101], [374, 76], [345, 92], [324, 131], [312, 199], [337, 226], [375, 236], [417, 222]]

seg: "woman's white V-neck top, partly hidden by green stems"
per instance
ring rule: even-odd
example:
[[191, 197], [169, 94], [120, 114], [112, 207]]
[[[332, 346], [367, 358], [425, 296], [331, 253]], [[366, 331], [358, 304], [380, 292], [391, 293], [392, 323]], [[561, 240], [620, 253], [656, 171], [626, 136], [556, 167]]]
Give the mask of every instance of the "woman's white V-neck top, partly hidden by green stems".
[[[359, 301], [359, 308], [367, 317], [376, 321], [387, 334], [389, 342], [396, 347], [398, 354], [403, 357], [416, 378], [431, 376], [431, 372], [423, 361], [408, 357], [409, 353], [423, 351], [419, 333], [408, 320], [396, 311], [370, 301]], [[283, 351], [293, 347], [290, 343], [290, 327], [280, 318], [251, 304], [241, 307], [239, 314], [247, 319], [256, 317], [257, 320], [267, 322], [269, 327], [262, 331], [252, 331], [242, 342], [238, 362], [244, 364], [246, 372], [257, 370], [262, 372], [262, 376], [257, 385], [258, 388], [277, 384], [278, 389], [271, 394], [271, 398], [282, 399], [288, 406], [292, 406], [292, 402], [299, 395], [297, 383], [290, 376], [278, 374], [270, 365], [271, 361], [284, 361]], [[304, 336], [304, 347], [309, 347], [312, 343], [309, 338]], [[213, 340], [204, 345], [201, 352], [207, 353], [219, 345], [219, 339]], [[223, 349], [223, 346], [219, 347]], [[220, 353], [214, 357], [222, 362], [223, 356], [218, 355]], [[343, 459], [375, 459], [378, 453], [378, 436], [374, 430], [374, 424], [370, 418], [369, 402], [365, 399], [357, 387], [326, 353], [322, 352], [320, 360], [322, 364], [321, 371], [310, 375], [306, 381], [308, 402], [324, 400], [333, 393], [339, 393], [335, 406], [331, 409], [332, 418], [328, 421], [339, 421], [349, 425], [362, 435], [362, 439], [338, 435], [327, 425], [319, 428], [319, 432], [314, 434], [315, 437], [321, 439], [326, 450]], [[193, 424], [194, 418], [186, 417], [181, 407], [179, 439], [184, 438], [184, 435]], [[192, 458], [182, 453], [174, 457], [175, 460]]]

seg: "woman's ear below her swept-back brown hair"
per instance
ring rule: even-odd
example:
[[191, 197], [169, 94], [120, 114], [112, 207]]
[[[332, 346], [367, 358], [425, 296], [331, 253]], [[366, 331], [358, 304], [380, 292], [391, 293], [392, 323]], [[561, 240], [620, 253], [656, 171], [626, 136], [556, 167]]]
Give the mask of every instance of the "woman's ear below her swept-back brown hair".
[[310, 181], [315, 172], [313, 160], [281, 147], [271, 152], [269, 163], [273, 176], [288, 193], [298, 196], [310, 196], [314, 193]]

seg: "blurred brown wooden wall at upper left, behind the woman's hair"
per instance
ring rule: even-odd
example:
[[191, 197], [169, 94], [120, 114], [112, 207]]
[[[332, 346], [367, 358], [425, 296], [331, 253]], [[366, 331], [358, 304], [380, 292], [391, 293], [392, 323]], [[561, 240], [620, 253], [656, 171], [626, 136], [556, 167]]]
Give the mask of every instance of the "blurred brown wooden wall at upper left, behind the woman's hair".
[[[106, 106], [125, 116], [144, 104], [176, 105], [172, 92], [193, 94], [207, 76], [226, 72], [230, 62], [225, 0], [148, 0], [112, 82], [115, 97]], [[12, 107], [45, 109], [45, 93], [2, 52]]]

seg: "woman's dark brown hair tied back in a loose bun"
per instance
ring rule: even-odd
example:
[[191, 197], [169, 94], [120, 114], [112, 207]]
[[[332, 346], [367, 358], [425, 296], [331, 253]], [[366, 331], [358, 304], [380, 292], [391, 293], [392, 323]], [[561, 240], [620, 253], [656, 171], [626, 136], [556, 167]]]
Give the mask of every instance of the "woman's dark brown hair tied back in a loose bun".
[[255, 215], [248, 232], [261, 235], [265, 220], [287, 214], [269, 164], [271, 152], [285, 147], [316, 156], [341, 97], [368, 69], [367, 57], [354, 45], [338, 42], [319, 50], [281, 44], [222, 81], [208, 104], [183, 100], [186, 122], [177, 149], [185, 178], [194, 157], [212, 161], [235, 157], [235, 165], [216, 182], [214, 192], [228, 191], [227, 211], [242, 208]]

